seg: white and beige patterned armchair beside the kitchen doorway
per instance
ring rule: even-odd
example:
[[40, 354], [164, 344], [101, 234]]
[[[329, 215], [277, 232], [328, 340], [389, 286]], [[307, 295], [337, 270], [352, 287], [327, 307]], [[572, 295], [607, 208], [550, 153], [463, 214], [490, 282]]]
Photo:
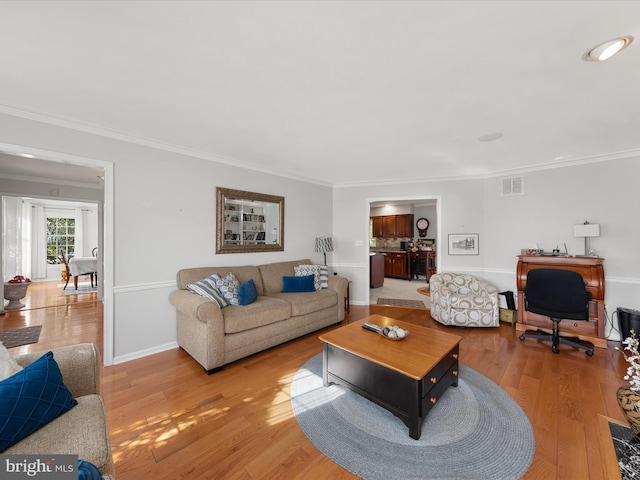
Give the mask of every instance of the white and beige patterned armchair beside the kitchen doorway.
[[497, 327], [498, 289], [464, 273], [437, 273], [429, 279], [431, 317], [456, 327]]

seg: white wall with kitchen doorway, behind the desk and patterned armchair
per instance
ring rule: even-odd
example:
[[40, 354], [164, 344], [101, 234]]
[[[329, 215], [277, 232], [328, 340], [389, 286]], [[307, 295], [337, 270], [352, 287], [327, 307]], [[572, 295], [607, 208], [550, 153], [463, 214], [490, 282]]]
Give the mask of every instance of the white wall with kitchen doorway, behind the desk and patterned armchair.
[[[352, 302], [368, 302], [368, 249], [366, 242], [356, 243], [366, 239], [371, 199], [432, 195], [439, 197], [440, 271], [477, 274], [515, 292], [521, 248], [537, 243], [545, 250], [564, 249], [566, 242], [570, 254], [582, 254], [584, 240], [573, 237], [573, 225], [589, 220], [601, 225], [591, 246], [605, 258], [609, 315], [618, 307], [640, 308], [640, 158], [532, 171], [524, 178], [525, 194], [511, 197], [500, 195], [500, 178], [335, 188], [333, 230], [341, 245], [334, 252], [335, 268], [352, 280]], [[450, 233], [478, 233], [480, 254], [448, 255]]]

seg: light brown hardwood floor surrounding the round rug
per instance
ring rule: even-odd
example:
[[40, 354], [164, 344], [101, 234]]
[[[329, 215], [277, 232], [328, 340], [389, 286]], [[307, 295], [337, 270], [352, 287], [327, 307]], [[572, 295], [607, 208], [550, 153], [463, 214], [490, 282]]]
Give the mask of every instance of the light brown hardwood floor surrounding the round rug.
[[[61, 336], [68, 343], [96, 341], [87, 324], [93, 314], [94, 325], [101, 324], [101, 308], [88, 300], [52, 305], [43, 309], [45, 315], [25, 315], [28, 324], [45, 324], [40, 342], [29, 350], [57, 346]], [[615, 395], [626, 383], [626, 363], [615, 350], [619, 343], [609, 342], [591, 358], [562, 346], [555, 355], [546, 343], [520, 342], [508, 324], [457, 329], [437, 324], [428, 310], [375, 305], [352, 305], [346, 321], [370, 313], [463, 337], [461, 361], [505, 389], [533, 425], [536, 453], [523, 478], [610, 478], [603, 467], [607, 462], [597, 424], [598, 414], [624, 422]], [[6, 321], [0, 317], [0, 329]], [[53, 327], [47, 327], [49, 322]], [[289, 386], [298, 368], [321, 352], [318, 334], [240, 360], [211, 376], [180, 349], [106, 367], [102, 393], [117, 478], [356, 478], [324, 457], [293, 417]]]

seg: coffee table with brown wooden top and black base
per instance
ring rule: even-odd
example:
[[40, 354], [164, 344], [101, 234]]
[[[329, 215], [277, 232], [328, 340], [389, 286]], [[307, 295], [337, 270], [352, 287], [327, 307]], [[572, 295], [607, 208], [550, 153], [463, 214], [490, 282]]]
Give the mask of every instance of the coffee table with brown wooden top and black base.
[[[393, 341], [365, 330], [365, 322], [397, 325], [408, 337]], [[371, 315], [320, 335], [324, 386], [342, 385], [400, 418], [419, 439], [427, 414], [449, 385], [458, 386], [462, 337]]]

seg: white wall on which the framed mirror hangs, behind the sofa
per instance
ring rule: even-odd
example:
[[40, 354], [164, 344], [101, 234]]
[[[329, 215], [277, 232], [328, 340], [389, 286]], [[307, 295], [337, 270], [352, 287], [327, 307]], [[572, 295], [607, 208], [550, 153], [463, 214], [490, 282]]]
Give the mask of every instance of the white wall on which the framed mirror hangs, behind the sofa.
[[[113, 163], [114, 258], [104, 261], [114, 262], [116, 363], [175, 346], [168, 295], [180, 268], [322, 261], [313, 249], [316, 236], [331, 233], [328, 186], [9, 115], [0, 115], [0, 142]], [[284, 196], [285, 250], [216, 255], [216, 186]], [[60, 187], [61, 198], [68, 188]]]

